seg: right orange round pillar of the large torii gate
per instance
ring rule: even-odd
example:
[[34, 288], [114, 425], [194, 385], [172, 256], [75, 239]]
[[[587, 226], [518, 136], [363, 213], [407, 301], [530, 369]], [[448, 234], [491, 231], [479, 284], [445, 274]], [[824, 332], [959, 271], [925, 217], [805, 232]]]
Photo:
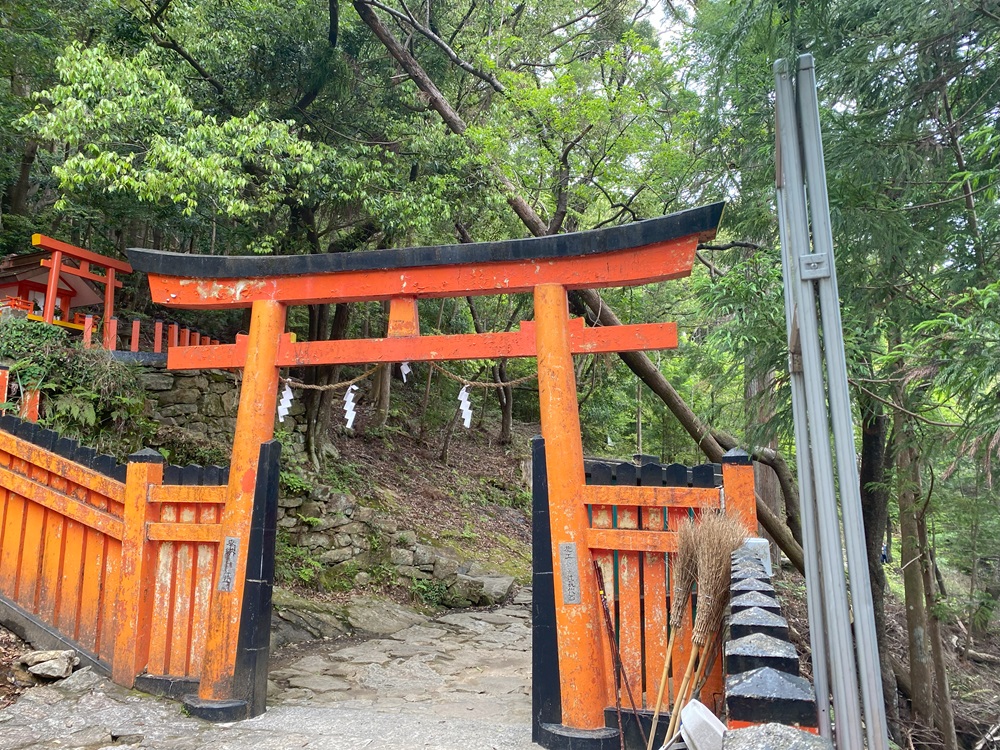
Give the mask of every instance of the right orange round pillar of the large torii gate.
[[[556, 264], [553, 264], [555, 266]], [[552, 268], [553, 266], [549, 266]], [[452, 269], [452, 273], [456, 269]], [[539, 273], [544, 281], [548, 274]], [[558, 278], [558, 276], [555, 276]], [[463, 282], [466, 280], [463, 279]], [[535, 286], [536, 350], [538, 352], [538, 400], [542, 436], [549, 456], [549, 518], [552, 525], [554, 585], [556, 591], [556, 637], [559, 662], [562, 723], [578, 729], [604, 726], [607, 680], [595, 665], [602, 663], [605, 639], [597, 582], [586, 534], [589, 521], [580, 502], [584, 486], [583, 447], [580, 443], [580, 413], [576, 399], [576, 377], [569, 337], [566, 289], [555, 284]], [[605, 532], [607, 533], [607, 532]], [[560, 545], [573, 545], [577, 565], [579, 603], [565, 600]]]

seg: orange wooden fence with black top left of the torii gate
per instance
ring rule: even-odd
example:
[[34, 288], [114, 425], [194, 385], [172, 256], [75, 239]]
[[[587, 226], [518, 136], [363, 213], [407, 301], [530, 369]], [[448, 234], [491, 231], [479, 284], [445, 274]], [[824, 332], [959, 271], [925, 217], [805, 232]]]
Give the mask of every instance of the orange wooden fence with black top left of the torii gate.
[[[220, 467], [164, 467], [148, 449], [121, 465], [0, 417], [0, 620], [121, 685], [196, 691], [227, 569], [227, 481]], [[251, 544], [249, 531], [227, 544]]]

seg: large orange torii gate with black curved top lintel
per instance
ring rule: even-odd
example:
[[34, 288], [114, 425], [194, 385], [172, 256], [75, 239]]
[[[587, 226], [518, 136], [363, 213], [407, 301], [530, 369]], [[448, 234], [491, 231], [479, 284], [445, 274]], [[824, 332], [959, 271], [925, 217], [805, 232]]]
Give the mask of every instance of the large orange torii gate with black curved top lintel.
[[[230, 540], [235, 568], [220, 559], [213, 586], [199, 698], [229, 701], [240, 694], [235, 663], [246, 578], [246, 543], [260, 446], [271, 439], [279, 368], [319, 364], [537, 357], [542, 434], [557, 598], [562, 723], [604, 726], [608, 685], [605, 644], [590, 549], [668, 553], [667, 531], [590, 528], [588, 504], [670, 507], [673, 488], [626, 490], [585, 486], [574, 354], [668, 349], [673, 323], [587, 329], [569, 316], [567, 292], [633, 286], [686, 276], [698, 242], [715, 236], [723, 204], [590, 232], [503, 242], [287, 257], [193, 256], [129, 250], [148, 274], [152, 299], [169, 307], [251, 307], [247, 336], [235, 344], [171, 349], [170, 369], [243, 368], [221, 539]], [[470, 335], [420, 334], [417, 300], [531, 292], [535, 320], [519, 330]], [[386, 338], [295, 341], [285, 333], [289, 305], [389, 300]], [[752, 507], [752, 497], [750, 499]], [[579, 549], [580, 553], [576, 554]], [[567, 555], [572, 550], [574, 555]], [[222, 558], [223, 556], [220, 556]], [[232, 560], [232, 558], [229, 558]], [[575, 559], [574, 565], [566, 561]], [[567, 596], [566, 592], [570, 592]], [[609, 678], [607, 678], [609, 679]]]

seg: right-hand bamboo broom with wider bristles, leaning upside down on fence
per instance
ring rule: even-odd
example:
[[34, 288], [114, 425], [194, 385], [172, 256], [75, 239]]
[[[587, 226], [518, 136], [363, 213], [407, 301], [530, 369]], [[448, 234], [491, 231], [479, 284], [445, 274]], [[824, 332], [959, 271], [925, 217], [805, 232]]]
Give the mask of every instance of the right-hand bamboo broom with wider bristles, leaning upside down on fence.
[[[680, 688], [674, 694], [674, 706], [670, 712], [670, 726], [667, 737], [673, 736], [680, 722], [681, 710], [687, 703], [688, 690], [692, 687], [698, 656], [707, 664], [707, 649], [712, 635], [722, 624], [729, 601], [730, 566], [733, 552], [746, 538], [746, 530], [736, 519], [724, 513], [705, 513], [698, 524], [696, 540], [698, 562], [698, 612], [694, 619], [694, 633], [691, 636], [693, 648], [687, 670]], [[704, 650], [704, 653], [702, 653]], [[702, 665], [702, 669], [705, 666]]]

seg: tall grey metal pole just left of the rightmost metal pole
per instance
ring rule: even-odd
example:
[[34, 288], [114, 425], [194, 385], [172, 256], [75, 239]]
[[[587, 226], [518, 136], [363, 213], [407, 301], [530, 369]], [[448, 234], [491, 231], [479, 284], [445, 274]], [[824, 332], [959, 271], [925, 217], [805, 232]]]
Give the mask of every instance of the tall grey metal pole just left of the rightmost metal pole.
[[[826, 397], [823, 383], [823, 359], [819, 346], [816, 295], [813, 281], [800, 278], [802, 268], [815, 263], [810, 253], [805, 191], [795, 117], [795, 99], [788, 65], [779, 60], [774, 66], [777, 93], [778, 132], [781, 144], [782, 175], [786, 186], [788, 233], [792, 255], [793, 292], [798, 299], [798, 323], [802, 345], [803, 382], [809, 420], [809, 455], [815, 479], [817, 517], [820, 530], [820, 559], [823, 567], [823, 599], [827, 609], [826, 624], [830, 635], [833, 705], [837, 717], [839, 747], [854, 750], [862, 747], [861, 704], [858, 696], [857, 668], [851, 642], [851, 622], [847, 600], [847, 581], [841, 556], [840, 521], [834, 492], [833, 462], [829, 435]], [[799, 461], [806, 459], [800, 456]], [[806, 459], [808, 460], [808, 459]], [[807, 551], [806, 554], [810, 554]]]

